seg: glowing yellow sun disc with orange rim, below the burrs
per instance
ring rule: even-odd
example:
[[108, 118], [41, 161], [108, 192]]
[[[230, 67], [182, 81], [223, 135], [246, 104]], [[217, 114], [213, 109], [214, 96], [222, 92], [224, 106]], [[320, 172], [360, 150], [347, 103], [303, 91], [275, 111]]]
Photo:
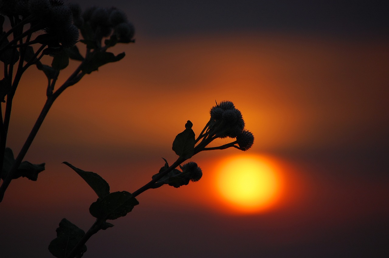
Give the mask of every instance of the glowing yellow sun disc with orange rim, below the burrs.
[[254, 213], [274, 206], [280, 184], [275, 167], [261, 156], [232, 156], [217, 167], [217, 191], [230, 208], [239, 212]]

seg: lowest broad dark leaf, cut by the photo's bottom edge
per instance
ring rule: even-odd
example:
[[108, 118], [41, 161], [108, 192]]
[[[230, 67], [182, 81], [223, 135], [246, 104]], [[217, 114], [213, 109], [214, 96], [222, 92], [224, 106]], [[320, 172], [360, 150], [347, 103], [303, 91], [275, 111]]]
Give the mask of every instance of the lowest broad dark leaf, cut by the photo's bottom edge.
[[[50, 242], [49, 251], [57, 258], [66, 258], [85, 235], [84, 230], [80, 229], [66, 218], [61, 220], [60, 227], [56, 229], [56, 232], [57, 237]], [[76, 257], [81, 257], [85, 252], [86, 245], [82, 246]]]

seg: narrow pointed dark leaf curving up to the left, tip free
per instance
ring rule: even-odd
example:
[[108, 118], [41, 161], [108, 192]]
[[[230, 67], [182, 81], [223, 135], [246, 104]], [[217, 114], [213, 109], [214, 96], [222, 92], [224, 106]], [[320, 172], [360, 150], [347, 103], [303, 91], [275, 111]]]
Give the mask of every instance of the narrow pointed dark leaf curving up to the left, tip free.
[[100, 175], [94, 172], [84, 171], [79, 168], [76, 168], [75, 166], [66, 161], [63, 162], [63, 164], [69, 166], [80, 177], [82, 177], [82, 179], [84, 179], [85, 182], [95, 191], [99, 198], [103, 199], [109, 194], [109, 184], [102, 177], [100, 177]]

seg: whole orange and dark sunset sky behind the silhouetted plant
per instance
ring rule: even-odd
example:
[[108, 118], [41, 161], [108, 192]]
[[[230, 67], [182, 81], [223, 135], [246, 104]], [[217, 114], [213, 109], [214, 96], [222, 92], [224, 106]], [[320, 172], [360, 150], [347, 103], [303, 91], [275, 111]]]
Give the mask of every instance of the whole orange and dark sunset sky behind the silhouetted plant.
[[[222, 100], [242, 112], [253, 147], [200, 152], [191, 158], [203, 170], [199, 182], [144, 192], [130, 214], [87, 242], [83, 257], [389, 256], [388, 3], [81, 6], [91, 5], [124, 10], [135, 43], [112, 48], [124, 59], [84, 76], [54, 103], [26, 155], [46, 170], [37, 182], [12, 181], [0, 204], [0, 257], [52, 257], [47, 246], [62, 218], [85, 231], [93, 224], [96, 195], [63, 161], [98, 173], [111, 192], [133, 192], [162, 158], [177, 159], [172, 142], [186, 121], [198, 135]], [[15, 154], [45, 93], [46, 77], [30, 68], [12, 109], [7, 146]], [[243, 157], [275, 178], [262, 208], [223, 197], [233, 189], [221, 186], [229, 162]]]

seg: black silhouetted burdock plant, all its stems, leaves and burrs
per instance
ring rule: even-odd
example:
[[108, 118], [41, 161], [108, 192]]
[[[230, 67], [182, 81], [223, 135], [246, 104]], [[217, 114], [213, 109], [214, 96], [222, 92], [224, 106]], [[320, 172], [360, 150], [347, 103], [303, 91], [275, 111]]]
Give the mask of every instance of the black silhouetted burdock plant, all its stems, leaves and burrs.
[[[35, 181], [45, 169], [44, 163], [32, 164], [22, 160], [54, 100], [66, 88], [80, 81], [85, 74], [90, 74], [109, 62], [121, 60], [124, 53], [114, 55], [107, 52], [107, 49], [117, 43], [134, 42], [134, 27], [127, 21], [126, 15], [116, 8], [91, 7], [82, 11], [79, 5], [65, 5], [62, 0], [1, 0], [0, 13], [0, 61], [4, 65], [4, 78], [0, 81], [0, 100], [5, 103], [4, 118], [0, 105], [1, 202], [12, 180], [27, 177]], [[7, 31], [3, 29], [5, 17], [9, 19], [11, 26]], [[40, 33], [32, 39], [33, 33], [37, 34], [36, 32]], [[85, 44], [85, 55], [81, 55], [75, 45], [78, 41]], [[45, 55], [52, 57], [51, 65], [42, 64], [40, 61]], [[58, 75], [61, 70], [67, 68], [69, 59], [81, 63], [61, 86], [56, 87]], [[14, 158], [12, 150], [6, 147], [12, 100], [21, 76], [32, 65], [43, 71], [47, 77], [47, 100], [25, 144]], [[165, 184], [178, 188], [200, 180], [203, 172], [197, 163], [189, 161], [182, 164], [195, 154], [229, 147], [246, 151], [254, 142], [252, 133], [245, 130], [242, 113], [230, 101], [216, 103], [216, 106], [210, 109], [210, 119], [197, 138], [192, 126], [191, 121], [187, 121], [185, 130], [173, 141], [172, 150], [177, 154], [177, 160], [169, 166], [166, 159], [163, 159], [165, 164], [151, 177], [151, 181], [132, 194], [127, 191], [110, 192], [109, 184], [98, 174], [64, 162], [96, 192], [98, 198], [89, 207], [89, 212], [96, 221], [84, 232], [64, 218], [56, 230], [57, 237], [49, 244], [49, 251], [58, 258], [81, 257], [86, 252], [85, 243], [88, 239], [99, 230], [113, 227], [107, 220], [115, 220], [129, 213], [139, 204], [135, 197], [145, 190]], [[235, 140], [217, 147], [208, 147], [217, 138]]]

